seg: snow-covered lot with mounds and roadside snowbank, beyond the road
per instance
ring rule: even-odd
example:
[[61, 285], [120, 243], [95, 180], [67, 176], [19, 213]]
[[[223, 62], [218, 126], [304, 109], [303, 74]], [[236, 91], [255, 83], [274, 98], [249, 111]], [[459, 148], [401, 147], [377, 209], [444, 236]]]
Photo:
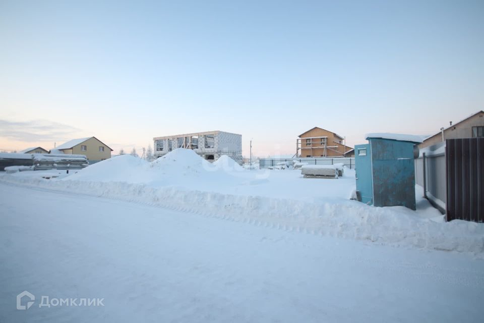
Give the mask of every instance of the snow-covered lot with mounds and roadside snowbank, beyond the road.
[[355, 179], [354, 171], [348, 169], [338, 179], [305, 179], [300, 170], [248, 171], [226, 156], [210, 164], [192, 150], [176, 149], [152, 163], [123, 155], [72, 173], [4, 174], [0, 182], [133, 201], [328, 237], [469, 252], [484, 258], [484, 225], [443, 222], [441, 214], [421, 198], [418, 186], [417, 211], [350, 200]]

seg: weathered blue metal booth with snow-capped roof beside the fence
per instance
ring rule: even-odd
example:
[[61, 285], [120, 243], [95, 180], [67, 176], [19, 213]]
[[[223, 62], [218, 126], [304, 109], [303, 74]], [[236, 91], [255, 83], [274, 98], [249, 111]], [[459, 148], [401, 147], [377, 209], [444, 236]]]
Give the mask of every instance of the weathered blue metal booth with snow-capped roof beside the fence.
[[[356, 197], [374, 206], [402, 205], [415, 209], [415, 144], [411, 135], [368, 134], [370, 142], [354, 147]], [[416, 156], [415, 156], [416, 154]]]

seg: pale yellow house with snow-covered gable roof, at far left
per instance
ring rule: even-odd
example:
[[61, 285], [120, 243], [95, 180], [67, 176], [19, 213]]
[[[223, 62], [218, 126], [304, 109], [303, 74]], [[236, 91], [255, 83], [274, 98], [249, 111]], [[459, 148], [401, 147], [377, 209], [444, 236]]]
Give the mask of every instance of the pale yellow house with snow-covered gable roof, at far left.
[[50, 153], [85, 155], [89, 164], [111, 158], [112, 149], [96, 137], [72, 139], [52, 149]]

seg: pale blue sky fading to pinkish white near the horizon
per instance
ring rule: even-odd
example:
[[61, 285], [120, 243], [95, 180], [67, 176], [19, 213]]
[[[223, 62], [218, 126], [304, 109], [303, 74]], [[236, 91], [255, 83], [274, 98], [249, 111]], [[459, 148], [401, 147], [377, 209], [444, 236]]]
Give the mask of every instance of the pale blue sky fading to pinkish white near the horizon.
[[482, 17], [483, 1], [1, 0], [0, 149], [223, 130], [266, 156], [314, 126], [350, 146], [433, 134], [484, 109]]

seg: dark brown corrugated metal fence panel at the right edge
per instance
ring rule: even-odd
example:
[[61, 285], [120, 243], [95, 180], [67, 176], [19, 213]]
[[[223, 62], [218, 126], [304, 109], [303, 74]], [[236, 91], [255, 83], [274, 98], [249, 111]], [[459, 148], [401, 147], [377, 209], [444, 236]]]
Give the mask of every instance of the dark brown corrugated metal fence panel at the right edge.
[[447, 139], [447, 221], [484, 222], [484, 138]]

